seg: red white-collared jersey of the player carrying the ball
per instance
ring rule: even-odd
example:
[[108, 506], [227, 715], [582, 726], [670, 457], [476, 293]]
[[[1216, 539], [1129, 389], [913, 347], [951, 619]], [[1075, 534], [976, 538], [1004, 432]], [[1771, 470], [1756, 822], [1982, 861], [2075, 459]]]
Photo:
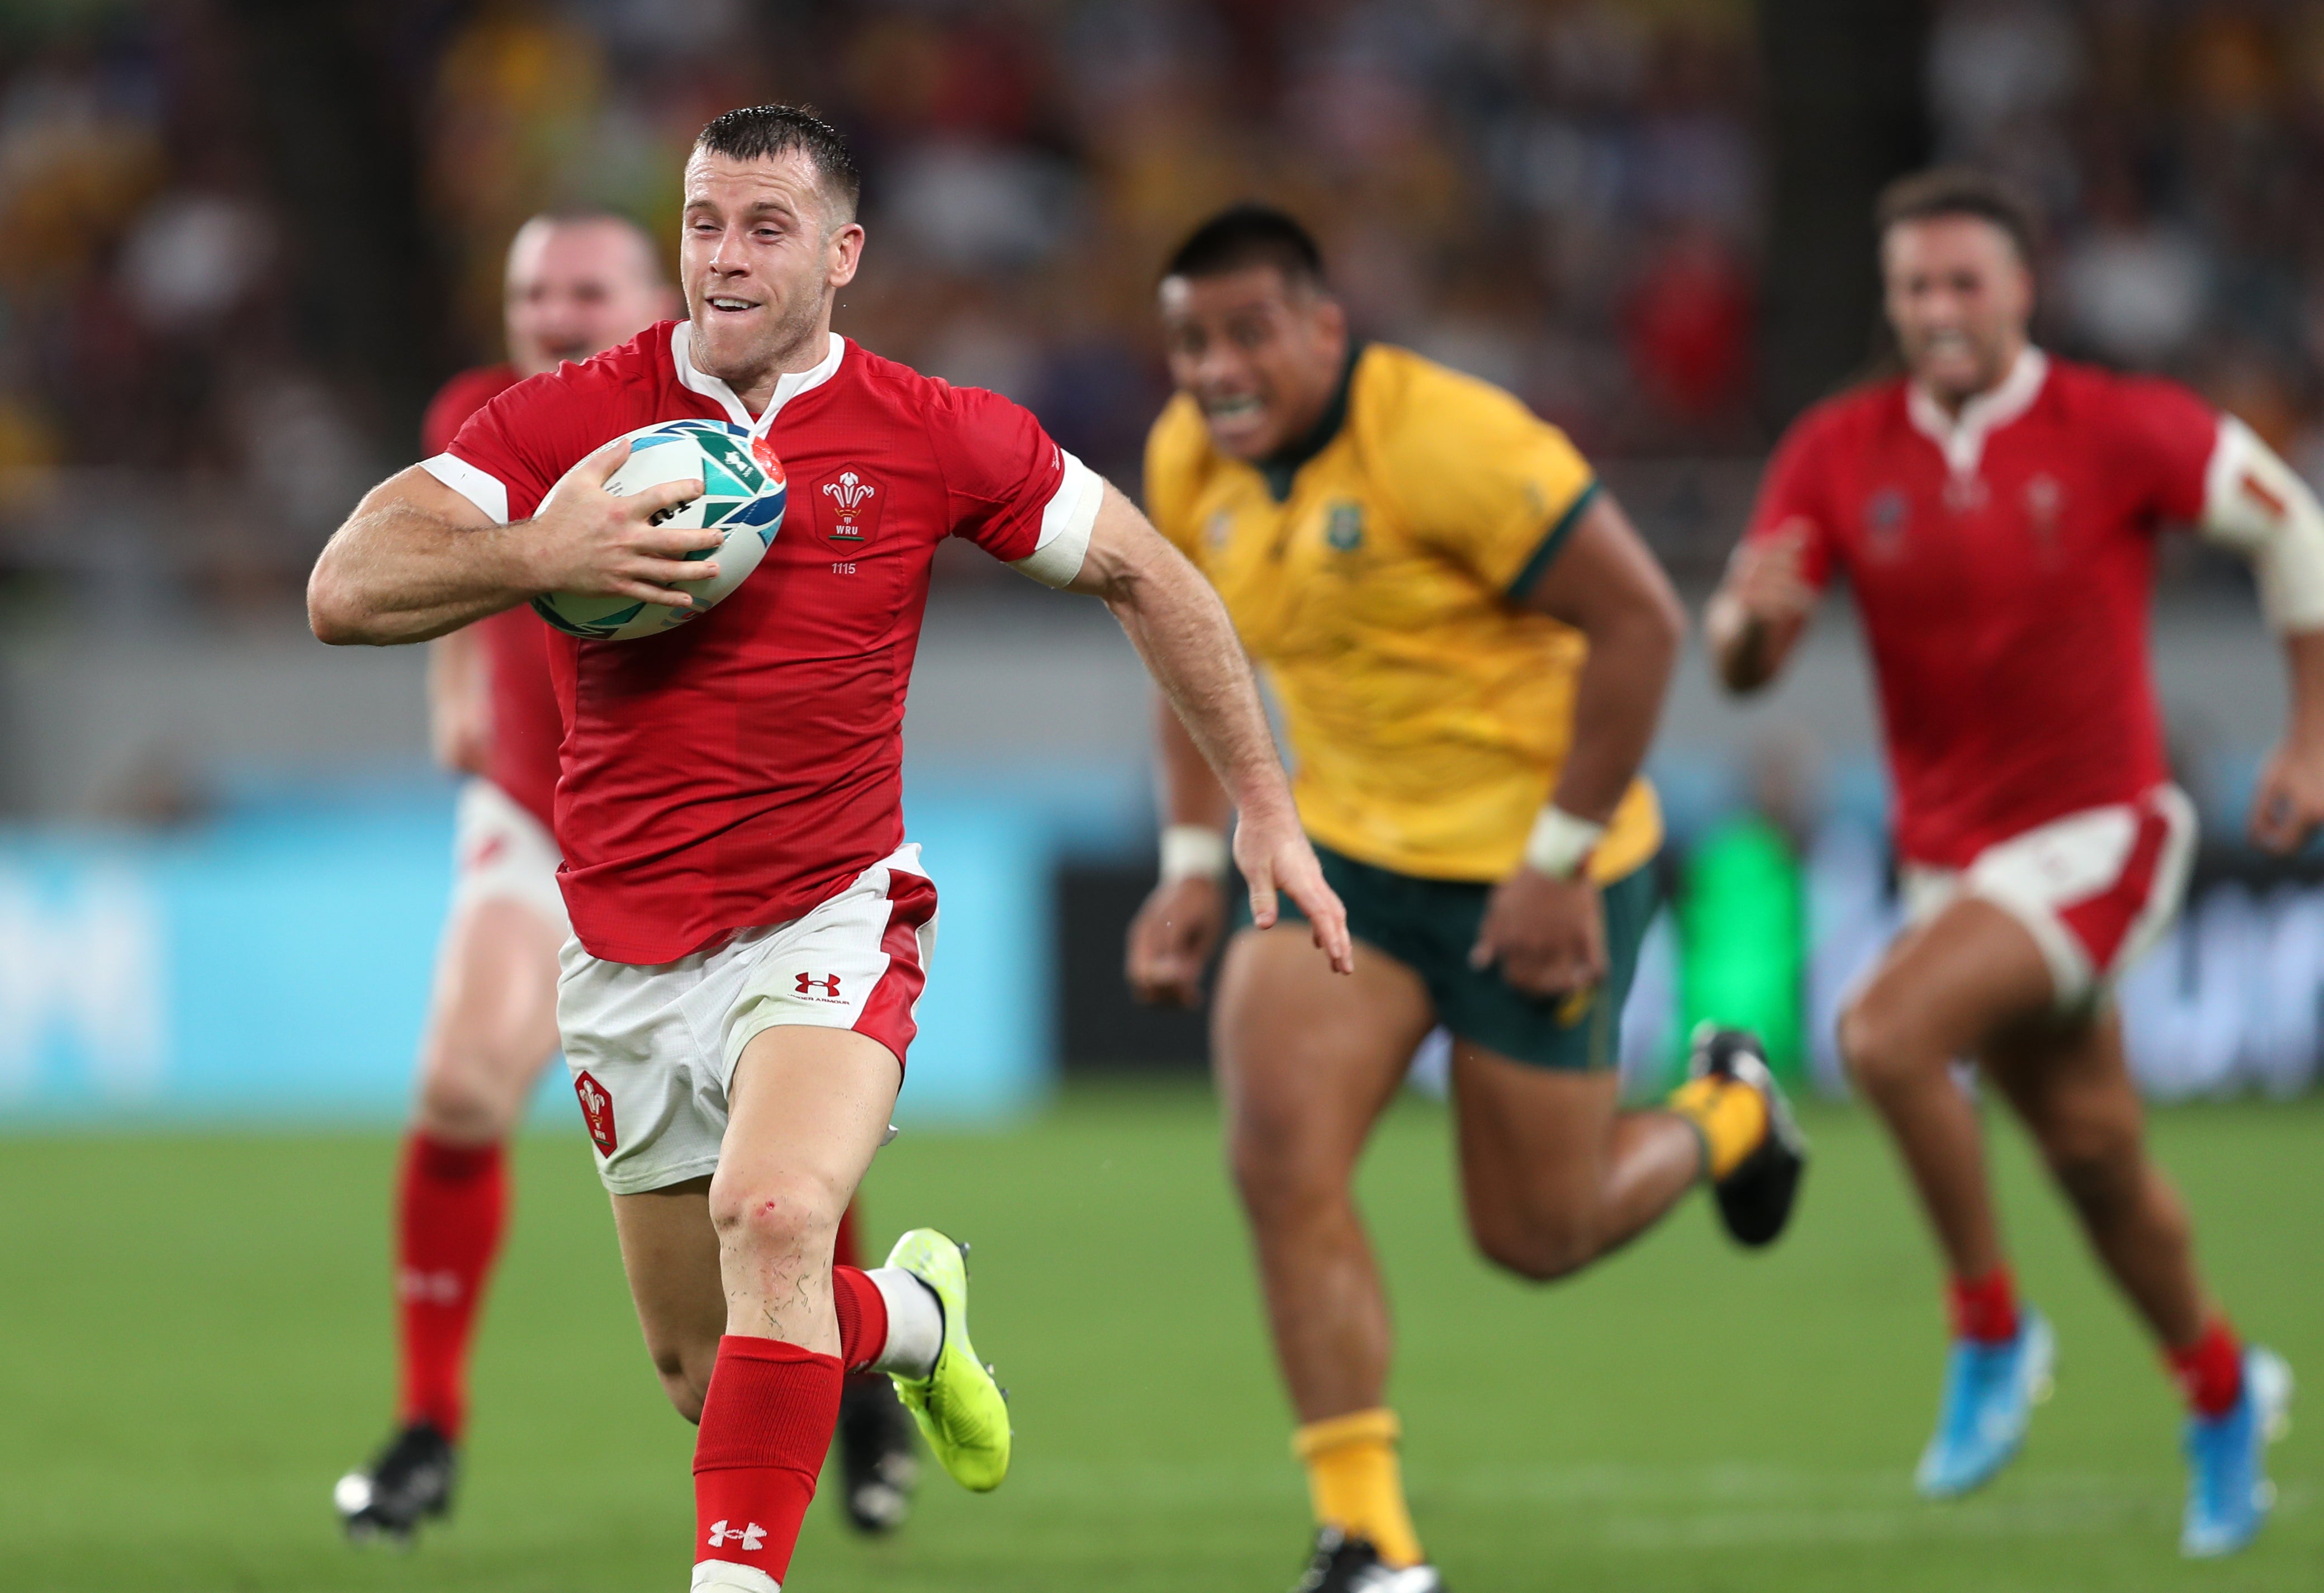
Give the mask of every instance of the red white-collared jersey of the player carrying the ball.
[[1097, 481], [1041, 423], [832, 337], [755, 421], [683, 321], [521, 381], [430, 472], [523, 519], [579, 458], [658, 421], [753, 426], [790, 505], [765, 560], [688, 626], [548, 637], [565, 709], [555, 835], [593, 956], [669, 963], [797, 919], [904, 840], [904, 688], [937, 542], [1030, 558], [1088, 535]]

